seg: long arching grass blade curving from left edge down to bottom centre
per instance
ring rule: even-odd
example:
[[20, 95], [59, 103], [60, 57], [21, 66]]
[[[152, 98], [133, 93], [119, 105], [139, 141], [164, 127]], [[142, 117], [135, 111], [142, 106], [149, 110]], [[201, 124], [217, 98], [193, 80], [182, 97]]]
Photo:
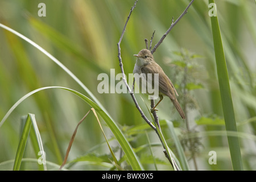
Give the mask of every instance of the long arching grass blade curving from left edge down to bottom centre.
[[26, 94], [25, 96], [23, 96], [22, 98], [20, 98], [20, 100], [18, 100], [9, 111], [7, 111], [5, 117], [3, 117], [2, 121], [0, 122], [0, 127], [3, 125], [3, 123], [6, 121], [7, 117], [9, 117], [9, 115], [11, 114], [11, 112], [23, 101], [25, 100], [27, 97], [31, 96], [32, 94], [39, 92], [40, 90], [45, 90], [45, 89], [52, 89], [52, 88], [59, 88], [59, 89], [64, 89], [64, 90], [68, 90], [69, 92], [72, 92], [73, 94], [76, 94], [76, 96], [79, 96], [80, 98], [82, 98], [82, 100], [84, 100], [87, 104], [89, 104], [90, 106], [92, 106], [96, 112], [98, 114], [100, 114], [100, 116], [102, 117], [102, 119], [104, 119], [104, 121], [106, 122], [106, 124], [109, 126], [110, 130], [113, 132], [113, 134], [115, 135], [115, 138], [118, 140], [120, 146], [122, 147], [123, 151], [125, 152], [127, 159], [129, 160], [129, 163], [131, 164], [131, 167], [133, 168], [133, 170], [136, 171], [140, 171], [143, 170], [143, 166], [142, 164], [139, 162], [139, 159], [137, 157], [137, 155], [135, 154], [135, 152], [133, 151], [133, 148], [130, 146], [129, 142], [127, 141], [127, 139], [125, 138], [125, 136], [123, 135], [122, 131], [118, 128], [118, 126], [115, 124], [115, 122], [112, 120], [112, 118], [109, 117], [108, 114], [105, 113], [104, 110], [101, 109], [100, 106], [98, 106], [95, 102], [93, 102], [92, 100], [90, 100], [88, 97], [84, 96], [83, 94], [77, 92], [76, 90], [72, 90], [69, 88], [64, 88], [61, 86], [47, 86], [47, 87], [43, 87], [43, 88], [39, 88], [36, 90], [33, 90], [32, 92]]

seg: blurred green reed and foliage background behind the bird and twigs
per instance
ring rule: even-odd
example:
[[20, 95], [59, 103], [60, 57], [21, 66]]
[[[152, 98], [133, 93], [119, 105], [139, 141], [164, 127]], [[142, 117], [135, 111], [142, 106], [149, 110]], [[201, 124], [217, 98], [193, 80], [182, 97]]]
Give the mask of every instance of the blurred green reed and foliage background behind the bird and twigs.
[[[171, 169], [153, 130], [130, 129], [143, 125], [129, 94], [100, 94], [100, 73], [120, 73], [117, 42], [133, 0], [43, 1], [46, 16], [39, 17], [42, 1], [1, 0], [0, 23], [13, 28], [51, 53], [75, 74], [100, 101], [123, 130], [134, 148], [152, 144], [137, 152], [145, 169]], [[190, 1], [139, 0], [121, 43], [125, 73], [133, 72], [135, 53], [145, 48], [144, 39], [152, 46], [177, 19]], [[240, 138], [243, 165], [255, 170], [256, 162], [256, 5], [251, 0], [216, 0], [222, 41], [228, 66], [234, 111]], [[172, 29], [154, 53], [155, 60], [170, 77], [179, 93], [178, 100], [187, 113], [189, 130], [181, 121], [170, 100], [158, 106], [160, 120], [170, 120], [183, 144], [192, 170], [230, 170], [230, 154], [223, 120], [220, 90], [216, 75], [214, 48], [208, 1], [195, 1], [188, 13]], [[52, 60], [18, 36], [0, 28], [0, 118], [22, 96], [44, 86], [65, 86], [86, 95], [84, 90]], [[135, 94], [144, 113], [150, 118], [146, 96]], [[143, 101], [143, 100], [144, 101]], [[90, 106], [79, 97], [60, 89], [43, 90], [27, 98], [0, 128], [0, 169], [12, 169], [18, 147], [23, 115], [33, 113], [39, 125], [47, 161], [61, 164], [69, 140], [80, 119]], [[104, 131], [117, 156], [123, 156], [118, 142], [105, 126]], [[176, 152], [167, 127], [162, 126], [169, 147]], [[228, 133], [229, 134], [229, 133]], [[231, 135], [231, 134], [230, 134]], [[188, 139], [193, 139], [193, 152]], [[155, 144], [155, 146], [154, 146]], [[208, 163], [209, 151], [217, 152], [217, 164]], [[77, 131], [68, 161], [79, 158], [70, 169], [109, 169], [109, 150], [96, 118], [88, 115]], [[84, 156], [83, 159], [80, 159]], [[89, 156], [89, 157], [88, 157]], [[36, 159], [28, 141], [24, 158]], [[92, 160], [93, 159], [93, 160]], [[100, 160], [101, 159], [101, 160]], [[130, 169], [129, 164], [122, 167]], [[22, 163], [21, 169], [37, 169], [35, 162]], [[55, 168], [49, 168], [55, 169]]]

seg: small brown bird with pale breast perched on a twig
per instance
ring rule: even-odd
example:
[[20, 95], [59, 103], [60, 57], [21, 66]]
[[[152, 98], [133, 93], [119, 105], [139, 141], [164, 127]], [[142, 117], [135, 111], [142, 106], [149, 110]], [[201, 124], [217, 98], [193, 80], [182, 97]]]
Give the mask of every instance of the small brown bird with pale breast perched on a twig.
[[[141, 75], [142, 73], [145, 73], [147, 76], [147, 73], [152, 73], [152, 76], [154, 76], [155, 73], [159, 73], [159, 97], [160, 100], [155, 105], [155, 107], [163, 100], [163, 96], [167, 96], [171, 99], [172, 104], [174, 104], [176, 110], [179, 112], [181, 118], [185, 119], [185, 114], [183, 110], [180, 107], [179, 102], [177, 101], [177, 96], [179, 96], [174, 88], [174, 85], [172, 84], [171, 80], [166, 76], [163, 69], [155, 62], [153, 55], [148, 49], [142, 49], [139, 51], [138, 55], [134, 55], [137, 57], [133, 74], [138, 73], [138, 75]], [[141, 86], [141, 82], [139, 82]], [[154, 86], [154, 78], [152, 78], [152, 86]], [[157, 110], [152, 108], [151, 113], [154, 110]]]

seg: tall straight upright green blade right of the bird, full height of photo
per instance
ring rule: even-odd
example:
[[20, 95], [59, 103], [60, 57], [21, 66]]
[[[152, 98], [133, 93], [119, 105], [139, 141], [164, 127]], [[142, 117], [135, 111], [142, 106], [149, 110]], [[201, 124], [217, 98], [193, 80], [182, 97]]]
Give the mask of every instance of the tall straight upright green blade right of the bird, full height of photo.
[[[209, 0], [209, 4], [210, 3], [214, 3], [214, 0]], [[222, 46], [221, 32], [218, 24], [217, 14], [216, 16], [211, 16], [210, 21], [212, 24], [212, 35], [217, 65], [217, 75], [220, 85], [221, 102], [224, 113], [226, 131], [237, 132], [232, 96], [230, 92], [228, 69], [226, 68], [226, 60], [224, 55], [224, 49]], [[233, 169], [243, 170], [240, 143], [238, 138], [228, 136], [228, 143]]]

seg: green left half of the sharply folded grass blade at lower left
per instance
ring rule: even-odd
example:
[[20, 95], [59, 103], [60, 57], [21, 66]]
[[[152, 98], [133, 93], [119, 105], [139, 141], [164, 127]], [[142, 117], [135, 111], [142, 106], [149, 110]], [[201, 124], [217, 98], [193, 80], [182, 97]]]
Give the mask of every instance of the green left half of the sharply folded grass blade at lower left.
[[20, 140], [19, 140], [19, 146], [18, 146], [15, 160], [14, 160], [13, 171], [19, 171], [24, 150], [27, 144], [28, 134], [30, 133], [31, 125], [32, 125], [31, 118], [29, 115], [27, 115], [27, 121], [25, 123], [25, 126], [23, 127], [22, 136], [20, 137]]

